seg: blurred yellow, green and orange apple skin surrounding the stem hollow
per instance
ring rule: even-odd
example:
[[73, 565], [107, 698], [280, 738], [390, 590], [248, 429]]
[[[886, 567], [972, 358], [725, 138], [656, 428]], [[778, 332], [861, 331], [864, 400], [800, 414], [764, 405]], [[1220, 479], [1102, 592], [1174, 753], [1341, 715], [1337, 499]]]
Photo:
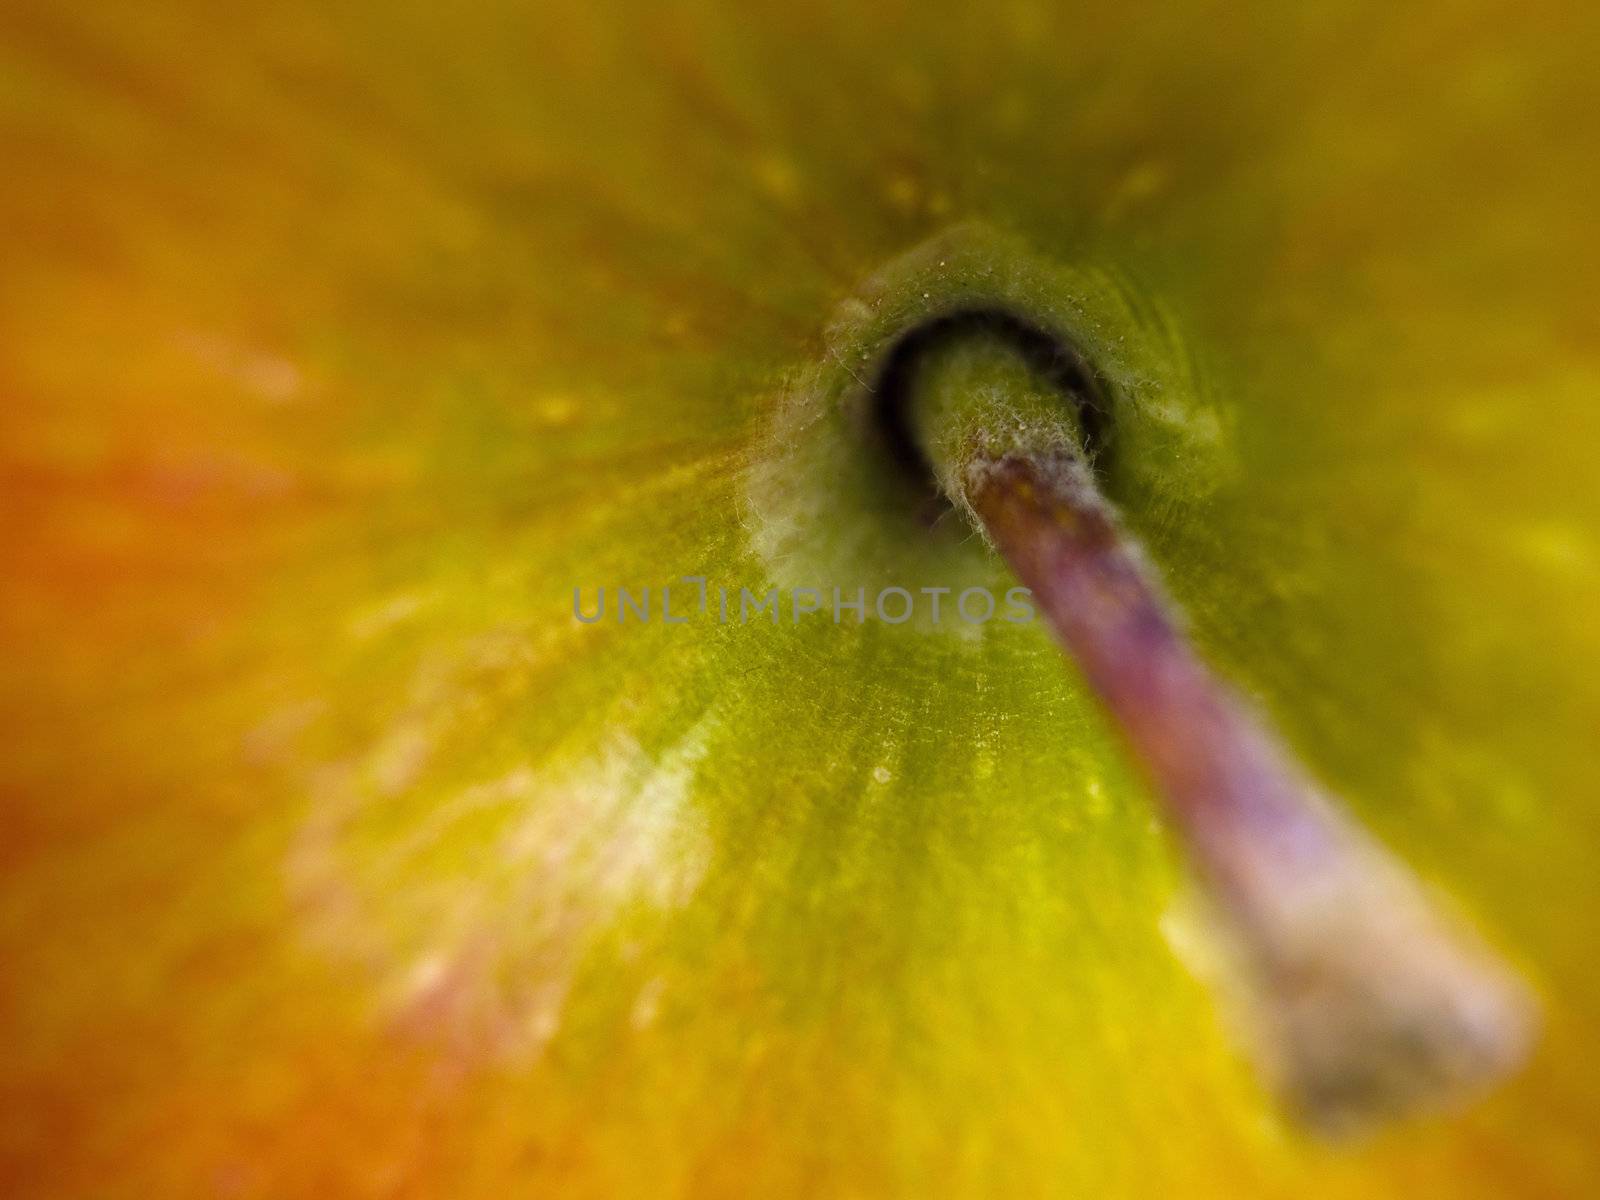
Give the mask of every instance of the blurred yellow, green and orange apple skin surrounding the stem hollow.
[[[1397, 8], [10, 5], [3, 1190], [1592, 1190], [1600, 18]], [[571, 621], [765, 582], [970, 221], [1182, 350], [1117, 501], [1538, 986], [1483, 1104], [1280, 1117], [1042, 630]]]

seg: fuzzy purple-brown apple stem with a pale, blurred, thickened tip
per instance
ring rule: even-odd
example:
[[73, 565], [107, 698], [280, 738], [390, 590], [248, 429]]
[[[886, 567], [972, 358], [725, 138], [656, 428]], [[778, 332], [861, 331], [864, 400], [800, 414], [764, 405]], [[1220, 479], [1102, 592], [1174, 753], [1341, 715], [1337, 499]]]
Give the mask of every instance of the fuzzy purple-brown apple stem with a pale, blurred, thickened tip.
[[1070, 414], [1003, 347], [954, 347], [915, 421], [1165, 800], [1285, 1101], [1342, 1134], [1440, 1107], [1526, 1056], [1522, 981], [1301, 770], [1195, 653]]

